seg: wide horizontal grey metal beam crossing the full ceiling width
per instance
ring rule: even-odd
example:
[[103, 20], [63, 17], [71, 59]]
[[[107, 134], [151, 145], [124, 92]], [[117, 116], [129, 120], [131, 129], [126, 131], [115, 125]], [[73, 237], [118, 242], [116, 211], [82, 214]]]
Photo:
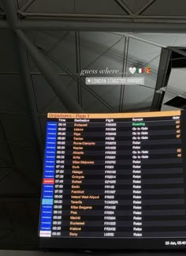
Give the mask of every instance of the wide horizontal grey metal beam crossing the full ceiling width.
[[[7, 0], [8, 2], [8, 0]], [[167, 32], [182, 33], [186, 32], [186, 18], [180, 19], [163, 19], [157, 17], [136, 18], [136, 19], [119, 19], [119, 18], [76, 18], [70, 19], [32, 19], [18, 20], [13, 25], [16, 29], [22, 30], [63, 30], [63, 31], [88, 31], [88, 32]], [[12, 29], [6, 21], [0, 21], [0, 29]]]

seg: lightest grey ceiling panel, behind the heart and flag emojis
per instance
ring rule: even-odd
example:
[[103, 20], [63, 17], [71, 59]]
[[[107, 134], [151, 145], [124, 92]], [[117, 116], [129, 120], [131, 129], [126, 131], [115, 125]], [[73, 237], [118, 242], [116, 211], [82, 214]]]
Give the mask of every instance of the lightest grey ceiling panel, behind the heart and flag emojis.
[[[158, 66], [161, 55], [161, 47], [154, 46], [133, 38], [129, 39], [127, 58], [127, 77], [144, 77], [144, 85], [125, 85], [123, 101], [124, 111], [150, 111], [154, 96]], [[151, 74], [129, 73], [130, 67], [151, 67]]]

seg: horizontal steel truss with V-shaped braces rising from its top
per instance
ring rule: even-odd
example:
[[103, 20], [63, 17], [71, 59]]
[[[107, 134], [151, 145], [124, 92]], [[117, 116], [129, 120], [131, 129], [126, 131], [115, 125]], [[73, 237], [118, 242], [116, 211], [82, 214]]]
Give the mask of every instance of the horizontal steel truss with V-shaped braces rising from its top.
[[[157, 0], [149, 0], [136, 13], [133, 13], [121, 0], [115, 0], [124, 10], [124, 15], [111, 14], [84, 14], [84, 13], [32, 13], [27, 12], [35, 0], [28, 0], [20, 9], [15, 9], [14, 14], [19, 19], [14, 23], [0, 21], [0, 28], [4, 29], [55, 29], [69, 31], [104, 31], [104, 32], [185, 32], [186, 16], [145, 16], [146, 9]], [[6, 1], [4, 1], [6, 2]], [[15, 6], [15, 0], [7, 0]], [[2, 8], [1, 8], [2, 9]], [[5, 6], [2, 17], [7, 13]], [[32, 19], [29, 19], [29, 18]], [[8, 17], [9, 20], [10, 17]], [[43, 18], [45, 18], [43, 20]], [[46, 19], [47, 18], [47, 19]]]

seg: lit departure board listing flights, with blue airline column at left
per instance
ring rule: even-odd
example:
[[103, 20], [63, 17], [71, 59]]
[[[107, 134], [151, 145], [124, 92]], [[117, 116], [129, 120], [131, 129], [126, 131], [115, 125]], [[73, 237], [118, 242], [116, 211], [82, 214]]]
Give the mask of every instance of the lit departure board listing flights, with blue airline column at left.
[[40, 246], [186, 248], [186, 113], [47, 115]]

